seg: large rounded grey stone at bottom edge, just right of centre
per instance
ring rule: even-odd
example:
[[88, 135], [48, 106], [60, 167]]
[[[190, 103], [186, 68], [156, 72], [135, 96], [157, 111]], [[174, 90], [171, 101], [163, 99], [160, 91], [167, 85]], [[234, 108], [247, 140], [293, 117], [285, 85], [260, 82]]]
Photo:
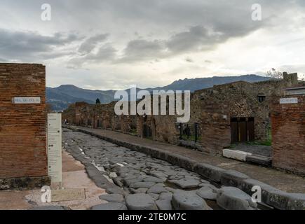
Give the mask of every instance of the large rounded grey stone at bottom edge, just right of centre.
[[175, 210], [212, 210], [201, 197], [186, 191], [172, 195], [172, 207]]

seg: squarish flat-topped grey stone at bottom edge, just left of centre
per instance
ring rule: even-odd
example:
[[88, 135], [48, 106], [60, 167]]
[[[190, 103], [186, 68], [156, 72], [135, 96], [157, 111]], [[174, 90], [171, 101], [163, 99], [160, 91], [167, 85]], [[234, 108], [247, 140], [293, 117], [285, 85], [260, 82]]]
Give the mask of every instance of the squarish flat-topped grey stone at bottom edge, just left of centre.
[[152, 197], [147, 194], [134, 194], [126, 197], [126, 205], [130, 210], [157, 210]]

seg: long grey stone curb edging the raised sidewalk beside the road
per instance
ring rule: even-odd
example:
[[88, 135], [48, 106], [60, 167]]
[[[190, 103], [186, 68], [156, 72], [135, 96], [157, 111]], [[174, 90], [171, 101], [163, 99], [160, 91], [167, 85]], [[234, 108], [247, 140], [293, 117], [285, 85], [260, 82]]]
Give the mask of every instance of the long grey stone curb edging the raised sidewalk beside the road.
[[273, 188], [272, 186], [269, 186], [266, 183], [262, 183], [254, 179], [250, 179], [250, 177], [240, 172], [222, 169], [220, 167], [215, 167], [205, 163], [199, 163], [196, 162], [196, 160], [192, 160], [190, 158], [184, 158], [182, 157], [182, 155], [178, 155], [175, 153], [168, 153], [167, 151], [162, 151], [157, 148], [126, 144], [123, 141], [118, 141], [116, 139], [103, 137], [98, 134], [88, 132], [86, 130], [81, 130], [77, 127], [70, 129], [83, 132], [85, 134], [90, 134], [91, 136], [95, 136], [99, 139], [103, 139], [105, 141], [109, 141], [113, 144], [130, 148], [135, 151], [140, 151], [141, 153], [146, 153], [154, 158], [168, 161], [184, 169], [188, 169], [192, 172], [196, 172], [197, 174], [204, 176], [210, 181], [221, 183], [224, 186], [233, 186], [236, 188], [240, 188], [240, 190], [243, 190], [245, 193], [248, 193], [249, 195], [253, 194], [251, 190], [253, 186], [260, 186], [262, 188], [262, 202], [270, 205], [271, 207], [275, 207], [276, 209], [284, 209], [284, 210], [305, 209], [305, 194], [286, 193], [284, 191]]

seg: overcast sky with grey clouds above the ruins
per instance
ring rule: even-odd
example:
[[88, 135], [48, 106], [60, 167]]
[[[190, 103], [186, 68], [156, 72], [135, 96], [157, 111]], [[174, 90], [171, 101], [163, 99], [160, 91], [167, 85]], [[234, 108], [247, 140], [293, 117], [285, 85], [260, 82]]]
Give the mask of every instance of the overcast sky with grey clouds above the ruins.
[[[0, 62], [47, 85], [156, 87], [183, 78], [305, 73], [304, 0], [0, 0]], [[41, 5], [51, 20], [41, 20]], [[252, 4], [262, 21], [252, 20]]]

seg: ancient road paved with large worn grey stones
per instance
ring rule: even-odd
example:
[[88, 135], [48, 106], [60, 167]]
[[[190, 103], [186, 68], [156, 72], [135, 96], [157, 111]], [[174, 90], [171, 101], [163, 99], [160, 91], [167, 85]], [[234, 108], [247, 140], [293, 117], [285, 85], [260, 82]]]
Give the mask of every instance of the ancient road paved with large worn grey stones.
[[[72, 155], [81, 153], [100, 176], [122, 189], [123, 193], [102, 195], [109, 203], [93, 209], [220, 209], [219, 186], [186, 169], [81, 132], [64, 130], [63, 144]], [[242, 196], [243, 209], [256, 207], [248, 202], [250, 196]]]

